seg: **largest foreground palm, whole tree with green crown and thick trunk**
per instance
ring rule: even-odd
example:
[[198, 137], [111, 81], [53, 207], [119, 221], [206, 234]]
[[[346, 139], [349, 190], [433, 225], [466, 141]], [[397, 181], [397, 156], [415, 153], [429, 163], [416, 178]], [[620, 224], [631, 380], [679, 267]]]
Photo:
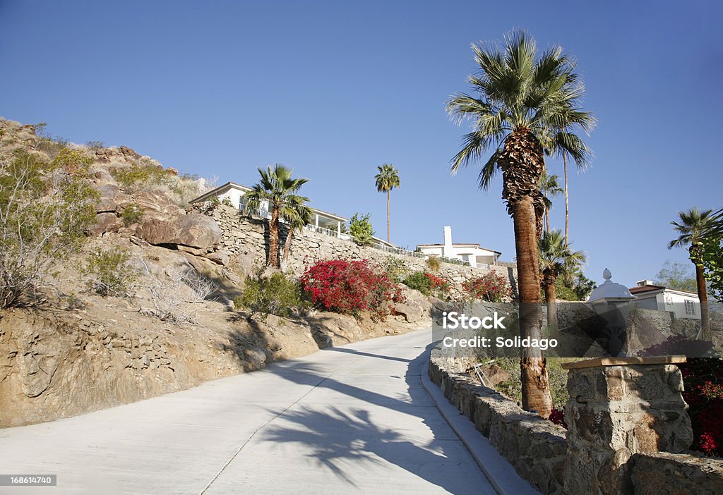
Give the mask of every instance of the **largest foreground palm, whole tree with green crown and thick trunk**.
[[[544, 201], [537, 183], [544, 170], [543, 143], [551, 141], [562, 113], [576, 108], [584, 87], [562, 48], [538, 56], [536, 43], [526, 32], [505, 36], [502, 50], [476, 44], [472, 50], [480, 68], [469, 77], [476, 96], [460, 93], [447, 102], [450, 115], [473, 122], [473, 131], [464, 136], [463, 148], [452, 159], [452, 172], [492, 152], [479, 173], [479, 185], [488, 189], [497, 170], [502, 171], [502, 198], [515, 231], [520, 332], [523, 337], [540, 338], [537, 239]], [[571, 113], [571, 122], [587, 115]], [[552, 399], [542, 351], [522, 349], [520, 368], [523, 408], [548, 416]]]

